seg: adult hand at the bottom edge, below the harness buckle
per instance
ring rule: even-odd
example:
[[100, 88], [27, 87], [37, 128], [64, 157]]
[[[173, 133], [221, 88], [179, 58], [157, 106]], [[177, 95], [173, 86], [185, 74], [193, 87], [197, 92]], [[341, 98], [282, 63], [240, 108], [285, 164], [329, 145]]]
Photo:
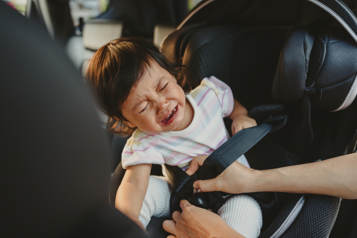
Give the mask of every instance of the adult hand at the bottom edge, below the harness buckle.
[[180, 201], [181, 212], [174, 212], [174, 220], [164, 221], [162, 227], [173, 235], [167, 238], [243, 237], [217, 214], [195, 207], [187, 200]]

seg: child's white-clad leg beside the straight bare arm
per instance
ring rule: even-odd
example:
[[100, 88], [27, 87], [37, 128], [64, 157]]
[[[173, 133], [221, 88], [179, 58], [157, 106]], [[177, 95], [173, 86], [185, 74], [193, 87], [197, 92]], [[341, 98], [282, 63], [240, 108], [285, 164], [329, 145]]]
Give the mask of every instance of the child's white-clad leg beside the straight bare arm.
[[149, 186], [142, 203], [139, 221], [147, 227], [152, 216], [170, 216], [170, 196], [169, 183], [163, 176], [150, 176]]

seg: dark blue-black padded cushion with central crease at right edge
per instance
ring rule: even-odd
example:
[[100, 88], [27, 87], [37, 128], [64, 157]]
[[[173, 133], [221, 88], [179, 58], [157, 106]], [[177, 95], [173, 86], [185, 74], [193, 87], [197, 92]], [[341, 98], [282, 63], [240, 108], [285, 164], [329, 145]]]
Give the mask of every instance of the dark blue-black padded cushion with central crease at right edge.
[[281, 102], [309, 97], [311, 107], [347, 108], [357, 94], [357, 47], [346, 31], [312, 26], [293, 30], [282, 47], [272, 95]]

